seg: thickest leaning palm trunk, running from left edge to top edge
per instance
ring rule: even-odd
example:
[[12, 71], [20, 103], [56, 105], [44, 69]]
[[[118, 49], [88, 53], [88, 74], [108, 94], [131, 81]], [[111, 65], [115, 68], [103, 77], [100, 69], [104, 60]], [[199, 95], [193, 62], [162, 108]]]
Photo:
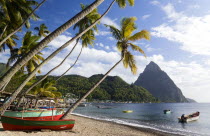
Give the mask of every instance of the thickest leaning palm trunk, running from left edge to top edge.
[[[2, 88], [5, 83], [10, 81], [12, 76], [26, 63], [28, 62], [35, 54], [37, 54], [39, 51], [41, 51], [49, 42], [51, 42], [53, 39], [58, 37], [61, 33], [66, 31], [69, 27], [80, 21], [82, 18], [84, 18], [86, 15], [88, 15], [90, 12], [92, 12], [95, 8], [97, 8], [104, 0], [96, 0], [91, 5], [89, 5], [87, 8], [85, 8], [83, 11], [75, 15], [73, 18], [68, 20], [65, 24], [57, 28], [54, 32], [49, 34], [46, 38], [44, 38], [37, 46], [36, 48], [32, 49], [29, 53], [27, 53], [23, 58], [21, 58], [19, 61], [17, 61], [0, 79], [0, 88]], [[80, 37], [80, 36], [79, 36]], [[74, 39], [75, 40], [75, 39]], [[2, 91], [2, 90], [1, 90]]]

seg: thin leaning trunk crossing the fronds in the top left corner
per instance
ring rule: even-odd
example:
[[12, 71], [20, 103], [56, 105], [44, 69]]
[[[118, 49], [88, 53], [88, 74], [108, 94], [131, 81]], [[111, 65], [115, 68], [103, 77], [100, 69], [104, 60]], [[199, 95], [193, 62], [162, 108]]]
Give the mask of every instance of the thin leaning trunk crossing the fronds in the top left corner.
[[0, 47], [2, 46], [2, 44], [9, 39], [12, 35], [14, 35], [15, 33], [17, 33], [22, 27], [23, 25], [26, 23], [26, 21], [34, 14], [34, 12], [45, 2], [46, 0], [43, 0], [29, 15], [28, 17], [23, 21], [23, 23], [12, 33], [10, 33], [9, 35], [7, 35], [7, 37], [5, 37], [1, 42], [0, 42]]

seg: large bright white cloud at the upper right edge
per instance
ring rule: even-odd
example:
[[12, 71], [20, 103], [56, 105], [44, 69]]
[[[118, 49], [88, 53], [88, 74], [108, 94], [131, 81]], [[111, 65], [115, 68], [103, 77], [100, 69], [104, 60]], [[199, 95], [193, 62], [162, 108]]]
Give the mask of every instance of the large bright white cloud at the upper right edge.
[[152, 28], [152, 35], [181, 44], [181, 49], [192, 54], [210, 55], [210, 15], [190, 16], [176, 12], [172, 4], [162, 6], [168, 23]]

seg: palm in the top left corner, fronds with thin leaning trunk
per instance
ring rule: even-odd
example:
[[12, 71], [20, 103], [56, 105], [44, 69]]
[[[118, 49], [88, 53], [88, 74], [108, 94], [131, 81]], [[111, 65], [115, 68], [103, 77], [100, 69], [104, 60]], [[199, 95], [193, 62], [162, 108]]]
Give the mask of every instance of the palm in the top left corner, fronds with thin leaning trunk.
[[[38, 4], [34, 0], [0, 0], [2, 7], [2, 22], [4, 26], [0, 27], [0, 47], [16, 32], [20, 31], [22, 26], [30, 27], [29, 19], [37, 20], [39, 17], [34, 13], [46, 0]], [[35, 9], [33, 6], [37, 5]], [[7, 31], [7, 33], [5, 33]], [[4, 37], [3, 37], [4, 36]]]

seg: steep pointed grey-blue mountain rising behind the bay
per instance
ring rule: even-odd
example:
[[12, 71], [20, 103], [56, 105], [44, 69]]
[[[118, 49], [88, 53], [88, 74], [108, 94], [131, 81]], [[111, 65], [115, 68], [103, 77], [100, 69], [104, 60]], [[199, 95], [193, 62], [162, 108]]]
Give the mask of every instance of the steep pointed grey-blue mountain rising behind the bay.
[[162, 102], [188, 102], [171, 78], [153, 61], [146, 66], [134, 84], [146, 88]]

